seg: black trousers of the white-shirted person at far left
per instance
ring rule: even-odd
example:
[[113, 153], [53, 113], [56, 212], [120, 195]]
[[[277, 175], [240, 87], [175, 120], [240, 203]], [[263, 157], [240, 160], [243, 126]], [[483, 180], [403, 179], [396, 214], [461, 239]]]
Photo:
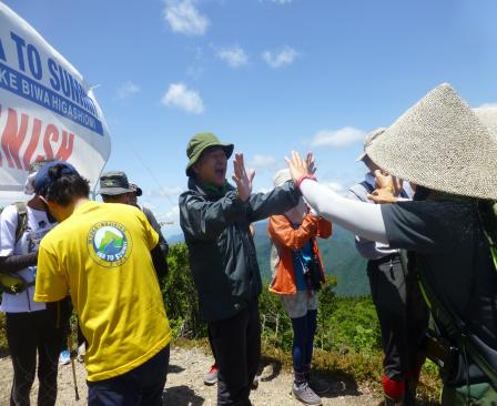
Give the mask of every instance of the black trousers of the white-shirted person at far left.
[[38, 353], [39, 406], [53, 406], [57, 399], [59, 354], [64, 325], [55, 325], [48, 309], [31, 313], [7, 313], [7, 339], [13, 365], [11, 406], [30, 404]]

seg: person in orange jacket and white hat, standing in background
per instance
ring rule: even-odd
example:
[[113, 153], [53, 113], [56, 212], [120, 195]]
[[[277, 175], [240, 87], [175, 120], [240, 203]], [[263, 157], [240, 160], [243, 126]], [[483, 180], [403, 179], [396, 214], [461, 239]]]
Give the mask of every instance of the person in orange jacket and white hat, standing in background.
[[[291, 179], [288, 170], [274, 176], [278, 186]], [[270, 217], [267, 232], [272, 241], [270, 291], [280, 295], [292, 319], [292, 357], [295, 379], [292, 392], [306, 405], [321, 405], [318, 396], [331, 386], [311, 376], [314, 335], [317, 319], [317, 290], [325, 282], [323, 260], [316, 237], [328, 238], [332, 223], [310, 212], [304, 199], [283, 215]]]

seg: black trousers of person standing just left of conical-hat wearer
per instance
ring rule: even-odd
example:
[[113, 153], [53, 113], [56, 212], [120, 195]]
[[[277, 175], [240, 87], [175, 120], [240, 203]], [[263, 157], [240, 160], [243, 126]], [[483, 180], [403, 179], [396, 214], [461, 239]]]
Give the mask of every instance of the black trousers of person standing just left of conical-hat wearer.
[[369, 261], [367, 275], [382, 331], [384, 374], [393, 380], [417, 375], [424, 361], [428, 309], [415, 275], [404, 273], [398, 255]]

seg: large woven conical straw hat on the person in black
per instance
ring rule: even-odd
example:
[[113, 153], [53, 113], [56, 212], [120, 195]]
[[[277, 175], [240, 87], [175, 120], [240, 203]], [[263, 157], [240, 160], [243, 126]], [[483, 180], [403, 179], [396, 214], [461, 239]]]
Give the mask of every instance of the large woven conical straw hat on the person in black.
[[486, 125], [444, 83], [407, 110], [366, 152], [379, 168], [412, 183], [497, 199], [497, 132], [490, 133]]

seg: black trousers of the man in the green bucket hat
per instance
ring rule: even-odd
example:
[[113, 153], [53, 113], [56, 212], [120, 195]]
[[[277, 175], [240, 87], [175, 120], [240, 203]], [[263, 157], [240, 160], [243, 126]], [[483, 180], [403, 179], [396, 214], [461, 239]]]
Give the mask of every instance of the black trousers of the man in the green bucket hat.
[[250, 406], [252, 382], [261, 361], [258, 304], [252, 303], [235, 316], [209, 322], [213, 353], [220, 368], [217, 405]]

